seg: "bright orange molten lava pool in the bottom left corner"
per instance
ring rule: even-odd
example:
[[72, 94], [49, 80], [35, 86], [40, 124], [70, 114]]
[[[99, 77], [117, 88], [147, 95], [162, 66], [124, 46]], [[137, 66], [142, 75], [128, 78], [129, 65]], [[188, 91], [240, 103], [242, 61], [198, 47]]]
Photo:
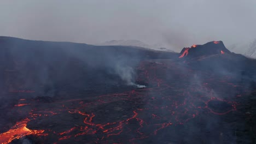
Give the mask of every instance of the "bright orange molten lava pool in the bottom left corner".
[[27, 122], [29, 121], [30, 119], [26, 118], [23, 121], [16, 123], [14, 127], [11, 127], [7, 132], [0, 134], [0, 143], [10, 143], [14, 139], [20, 139], [20, 137], [26, 135], [34, 135], [44, 132], [44, 130], [30, 130], [26, 128]]

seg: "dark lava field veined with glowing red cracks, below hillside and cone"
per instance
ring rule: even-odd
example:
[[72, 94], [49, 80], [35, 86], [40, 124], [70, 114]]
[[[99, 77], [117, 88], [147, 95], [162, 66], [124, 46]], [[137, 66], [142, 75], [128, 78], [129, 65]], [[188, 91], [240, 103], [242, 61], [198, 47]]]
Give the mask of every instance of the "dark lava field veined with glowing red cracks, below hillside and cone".
[[[246, 90], [232, 77], [167, 60], [144, 61], [137, 83], [146, 88], [80, 99], [21, 98], [24, 116], [0, 143], [207, 143], [232, 141], [232, 119]], [[228, 120], [227, 120], [228, 121]], [[227, 130], [228, 129], [228, 130]]]

